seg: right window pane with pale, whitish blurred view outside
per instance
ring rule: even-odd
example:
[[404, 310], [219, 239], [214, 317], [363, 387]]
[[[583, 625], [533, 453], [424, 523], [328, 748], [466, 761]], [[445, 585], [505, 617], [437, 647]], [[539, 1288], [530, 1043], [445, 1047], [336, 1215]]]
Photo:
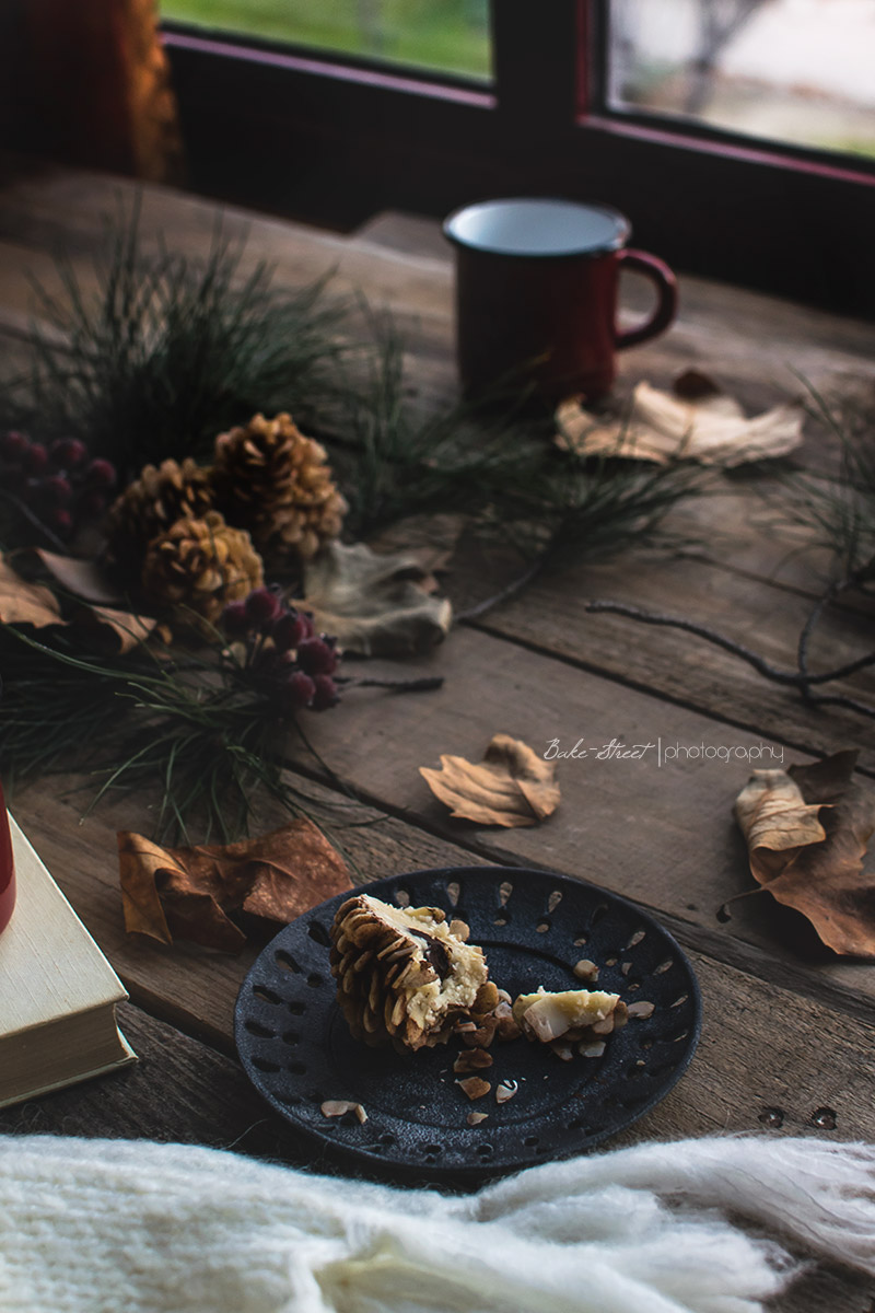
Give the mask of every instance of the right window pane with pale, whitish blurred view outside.
[[610, 0], [609, 104], [875, 156], [875, 0]]

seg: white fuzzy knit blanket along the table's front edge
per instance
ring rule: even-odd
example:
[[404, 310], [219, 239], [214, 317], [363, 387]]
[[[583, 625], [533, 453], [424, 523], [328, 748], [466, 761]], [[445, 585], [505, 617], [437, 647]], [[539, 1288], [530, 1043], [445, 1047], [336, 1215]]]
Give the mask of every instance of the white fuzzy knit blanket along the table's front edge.
[[447, 1196], [215, 1149], [0, 1138], [0, 1309], [754, 1313], [799, 1262], [727, 1212], [875, 1274], [863, 1145], [640, 1145]]

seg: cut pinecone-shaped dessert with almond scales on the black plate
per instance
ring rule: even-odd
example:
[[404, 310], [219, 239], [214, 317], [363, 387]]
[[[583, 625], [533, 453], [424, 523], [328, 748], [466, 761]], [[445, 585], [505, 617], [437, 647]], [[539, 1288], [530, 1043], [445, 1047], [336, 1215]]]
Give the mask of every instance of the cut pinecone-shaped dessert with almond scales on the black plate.
[[467, 934], [462, 922], [447, 926], [439, 907], [348, 898], [331, 931], [331, 970], [353, 1035], [371, 1045], [432, 1048], [459, 1022], [491, 1012], [499, 991]]

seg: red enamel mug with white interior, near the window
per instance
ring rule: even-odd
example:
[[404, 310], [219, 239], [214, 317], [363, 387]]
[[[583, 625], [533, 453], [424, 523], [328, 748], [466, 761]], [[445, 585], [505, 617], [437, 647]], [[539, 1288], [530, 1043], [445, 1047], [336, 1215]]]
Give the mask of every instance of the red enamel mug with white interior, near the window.
[[[609, 393], [615, 352], [664, 332], [677, 310], [666, 264], [626, 243], [631, 225], [606, 205], [516, 198], [451, 214], [459, 374], [467, 395], [499, 383], [531, 386], [548, 402]], [[617, 327], [621, 269], [645, 274], [656, 307]]]

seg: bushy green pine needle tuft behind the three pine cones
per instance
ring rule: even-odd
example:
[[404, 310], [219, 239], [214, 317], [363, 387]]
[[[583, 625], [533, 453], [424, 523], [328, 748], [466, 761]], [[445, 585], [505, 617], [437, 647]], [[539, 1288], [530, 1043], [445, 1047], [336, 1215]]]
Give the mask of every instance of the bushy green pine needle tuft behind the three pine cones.
[[296, 291], [220, 225], [205, 257], [147, 251], [139, 213], [109, 226], [91, 268], [56, 260], [62, 290], [34, 282], [34, 362], [7, 381], [22, 427], [76, 436], [123, 478], [144, 462], [207, 456], [257, 411], [307, 419], [336, 383], [346, 307], [328, 276]]

